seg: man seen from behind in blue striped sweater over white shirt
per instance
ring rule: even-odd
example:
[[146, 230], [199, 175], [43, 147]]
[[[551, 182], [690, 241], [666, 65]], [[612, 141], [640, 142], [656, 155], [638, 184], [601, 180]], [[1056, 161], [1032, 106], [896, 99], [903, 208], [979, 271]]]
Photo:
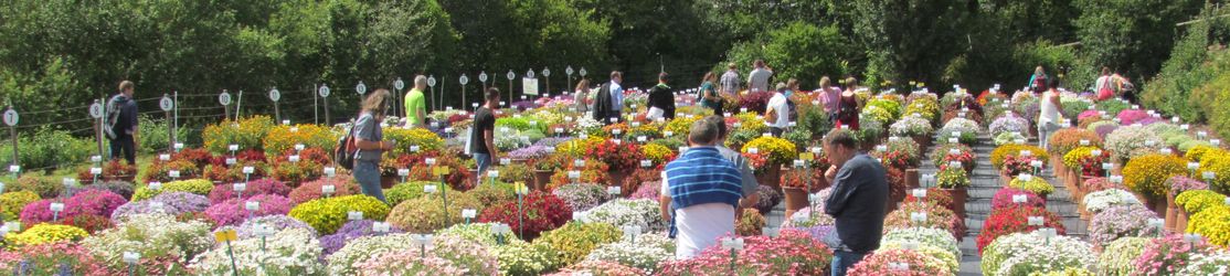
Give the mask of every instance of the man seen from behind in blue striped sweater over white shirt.
[[659, 198], [662, 218], [672, 222], [675, 258], [680, 260], [734, 233], [736, 207], [744, 195], [739, 169], [713, 147], [718, 127], [700, 120], [690, 131], [688, 144], [691, 148], [667, 164]]

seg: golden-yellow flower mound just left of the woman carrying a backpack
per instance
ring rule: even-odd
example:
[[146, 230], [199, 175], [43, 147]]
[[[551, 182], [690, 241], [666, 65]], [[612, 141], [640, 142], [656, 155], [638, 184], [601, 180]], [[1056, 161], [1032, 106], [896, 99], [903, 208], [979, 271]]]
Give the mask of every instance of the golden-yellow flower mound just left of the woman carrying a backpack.
[[[343, 134], [344, 136], [344, 134]], [[293, 150], [295, 144], [304, 148], [333, 150], [338, 134], [333, 129], [317, 124], [277, 126], [264, 137], [264, 154], [277, 156]]]

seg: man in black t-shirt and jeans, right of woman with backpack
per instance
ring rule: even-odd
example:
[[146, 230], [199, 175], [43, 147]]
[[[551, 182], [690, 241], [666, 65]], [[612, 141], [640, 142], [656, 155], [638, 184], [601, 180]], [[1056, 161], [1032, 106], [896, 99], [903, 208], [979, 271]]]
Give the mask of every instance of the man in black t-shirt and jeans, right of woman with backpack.
[[486, 102], [474, 115], [474, 127], [470, 131], [470, 154], [478, 165], [478, 181], [487, 175], [491, 161], [499, 158], [496, 148], [496, 110], [499, 108], [499, 89], [488, 87], [483, 95]]

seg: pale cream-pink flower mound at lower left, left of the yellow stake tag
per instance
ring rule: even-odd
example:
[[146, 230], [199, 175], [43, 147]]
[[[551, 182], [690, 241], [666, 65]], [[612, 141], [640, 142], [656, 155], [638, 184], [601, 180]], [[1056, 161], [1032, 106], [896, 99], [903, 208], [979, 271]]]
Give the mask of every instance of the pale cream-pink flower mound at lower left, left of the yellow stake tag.
[[213, 242], [209, 224], [204, 222], [177, 222], [170, 214], [149, 213], [129, 216], [81, 244], [107, 264], [123, 266], [125, 251], [139, 253], [145, 259], [173, 256], [186, 262], [188, 258], [209, 250]]

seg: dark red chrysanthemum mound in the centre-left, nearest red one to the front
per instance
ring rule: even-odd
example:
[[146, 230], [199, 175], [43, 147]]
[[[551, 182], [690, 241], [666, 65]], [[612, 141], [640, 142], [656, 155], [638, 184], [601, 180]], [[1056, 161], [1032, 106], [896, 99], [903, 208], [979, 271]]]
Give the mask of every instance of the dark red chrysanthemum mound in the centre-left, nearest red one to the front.
[[[522, 200], [520, 212], [517, 208], [517, 200], [510, 200], [487, 207], [478, 216], [478, 222], [508, 224], [513, 234], [525, 240], [538, 238], [540, 233], [558, 228], [568, 221], [572, 221], [572, 208], [555, 195], [541, 191], [526, 195]], [[523, 222], [525, 224], [522, 224]]]

